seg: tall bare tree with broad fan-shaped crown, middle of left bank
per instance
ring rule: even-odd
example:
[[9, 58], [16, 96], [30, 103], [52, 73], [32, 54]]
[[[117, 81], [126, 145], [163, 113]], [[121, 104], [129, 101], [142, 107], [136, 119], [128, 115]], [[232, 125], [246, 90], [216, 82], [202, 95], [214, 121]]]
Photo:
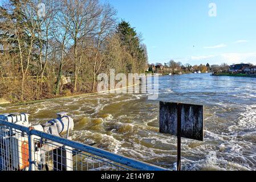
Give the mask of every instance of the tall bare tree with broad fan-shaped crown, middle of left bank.
[[68, 19], [67, 21], [71, 22], [68, 31], [73, 43], [72, 50], [75, 65], [74, 92], [76, 92], [82, 63], [82, 55], [78, 52], [78, 44], [80, 40], [93, 34], [96, 30], [101, 9], [97, 0], [64, 0], [64, 5], [66, 6], [64, 14]]

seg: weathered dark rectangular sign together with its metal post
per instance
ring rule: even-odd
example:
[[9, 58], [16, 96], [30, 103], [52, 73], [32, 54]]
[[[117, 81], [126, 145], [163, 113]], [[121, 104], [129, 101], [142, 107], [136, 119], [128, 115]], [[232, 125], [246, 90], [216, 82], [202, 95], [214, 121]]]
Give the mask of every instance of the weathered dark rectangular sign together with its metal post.
[[181, 137], [204, 140], [204, 106], [160, 102], [160, 133], [177, 136], [177, 170], [181, 170]]

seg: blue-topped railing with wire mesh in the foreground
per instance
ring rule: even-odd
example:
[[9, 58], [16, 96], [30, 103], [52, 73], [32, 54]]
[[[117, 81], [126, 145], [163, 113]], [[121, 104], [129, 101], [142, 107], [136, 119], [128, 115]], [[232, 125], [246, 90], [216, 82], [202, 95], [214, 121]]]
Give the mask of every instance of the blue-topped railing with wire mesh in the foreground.
[[0, 120], [0, 171], [165, 170]]

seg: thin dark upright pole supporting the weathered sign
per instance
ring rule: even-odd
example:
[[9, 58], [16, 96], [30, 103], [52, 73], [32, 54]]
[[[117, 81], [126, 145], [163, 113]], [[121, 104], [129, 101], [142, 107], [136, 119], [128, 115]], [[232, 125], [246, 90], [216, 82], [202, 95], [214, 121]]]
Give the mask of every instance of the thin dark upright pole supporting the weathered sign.
[[177, 171], [181, 171], [181, 105], [178, 104], [177, 115]]

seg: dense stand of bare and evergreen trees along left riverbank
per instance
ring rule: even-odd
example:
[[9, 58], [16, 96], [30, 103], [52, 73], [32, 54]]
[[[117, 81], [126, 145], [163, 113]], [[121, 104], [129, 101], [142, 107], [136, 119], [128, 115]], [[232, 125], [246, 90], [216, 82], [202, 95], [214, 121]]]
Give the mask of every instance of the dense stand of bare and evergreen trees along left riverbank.
[[[94, 92], [97, 75], [143, 73], [147, 48], [99, 0], [9, 0], [0, 6], [0, 97], [12, 102]], [[45, 12], [38, 9], [39, 3]], [[42, 4], [40, 4], [42, 5]], [[64, 85], [63, 76], [71, 78]], [[32, 77], [32, 79], [31, 79]]]

